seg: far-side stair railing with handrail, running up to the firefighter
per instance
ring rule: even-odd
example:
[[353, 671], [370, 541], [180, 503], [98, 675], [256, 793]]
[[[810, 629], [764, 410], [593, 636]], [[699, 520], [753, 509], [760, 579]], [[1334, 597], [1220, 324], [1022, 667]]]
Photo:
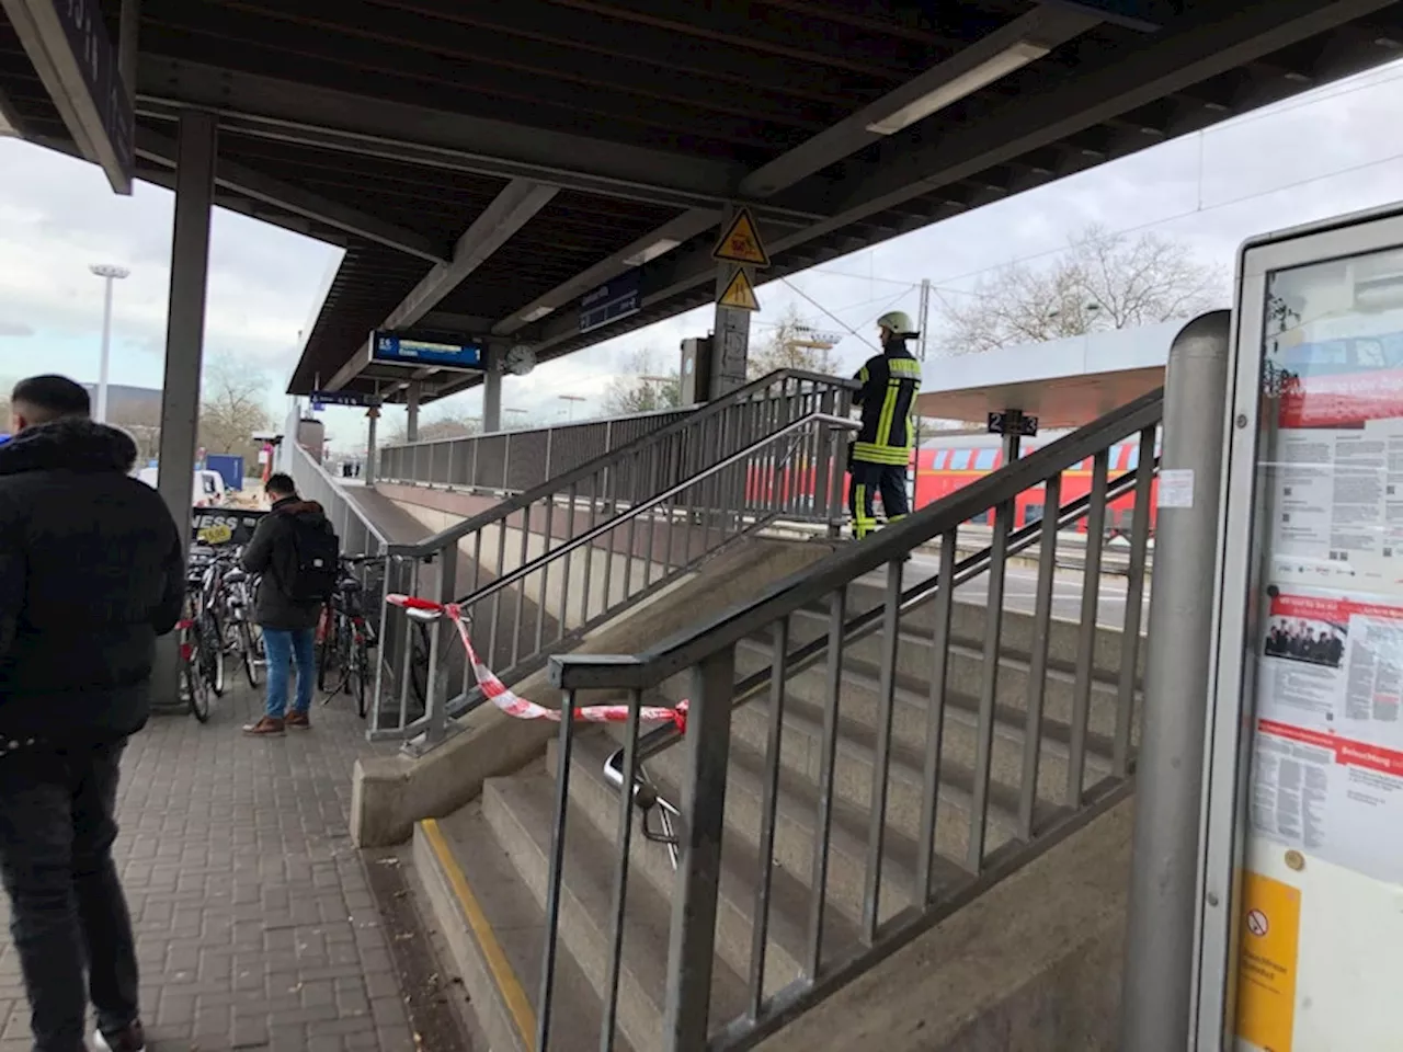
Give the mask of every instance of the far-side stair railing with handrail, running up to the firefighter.
[[[776, 518], [836, 533], [854, 387], [772, 373], [424, 541], [387, 546], [386, 593], [466, 596], [483, 659], [504, 680], [528, 675]], [[382, 617], [370, 736], [432, 748], [480, 699], [471, 670], [442, 645], [448, 626], [390, 605]]]

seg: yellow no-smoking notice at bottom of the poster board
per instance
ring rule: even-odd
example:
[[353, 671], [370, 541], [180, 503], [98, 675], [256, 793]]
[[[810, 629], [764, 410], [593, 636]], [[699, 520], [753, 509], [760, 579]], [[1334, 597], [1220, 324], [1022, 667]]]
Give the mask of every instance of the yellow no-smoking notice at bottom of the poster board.
[[1291, 1052], [1296, 1017], [1301, 892], [1243, 874], [1237, 958], [1237, 1037], [1266, 1052]]

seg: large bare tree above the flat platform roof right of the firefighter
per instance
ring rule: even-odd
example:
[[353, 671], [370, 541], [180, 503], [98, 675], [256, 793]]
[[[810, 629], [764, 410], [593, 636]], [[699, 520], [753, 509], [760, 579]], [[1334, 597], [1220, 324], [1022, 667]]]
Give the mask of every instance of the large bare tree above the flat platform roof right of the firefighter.
[[969, 296], [947, 297], [940, 346], [950, 355], [1040, 344], [1191, 317], [1226, 299], [1226, 279], [1187, 245], [1090, 226], [1051, 267], [1007, 267]]

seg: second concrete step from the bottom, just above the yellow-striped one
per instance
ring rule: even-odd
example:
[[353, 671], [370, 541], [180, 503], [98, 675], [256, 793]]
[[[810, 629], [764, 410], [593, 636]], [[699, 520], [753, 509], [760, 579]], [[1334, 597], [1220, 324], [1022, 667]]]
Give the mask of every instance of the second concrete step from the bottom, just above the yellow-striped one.
[[[544, 764], [483, 785], [483, 814], [506, 849], [526, 886], [544, 906], [554, 828], [554, 780]], [[596, 997], [605, 996], [612, 948], [615, 853], [584, 805], [567, 811], [560, 937], [584, 968]], [[662, 1046], [666, 1010], [668, 933], [672, 908], [647, 881], [631, 881], [624, 908], [619, 1025], [640, 1049]], [[717, 1018], [744, 1009], [745, 986], [724, 962], [713, 973], [711, 1004]], [[568, 1017], [556, 1016], [557, 1020]]]

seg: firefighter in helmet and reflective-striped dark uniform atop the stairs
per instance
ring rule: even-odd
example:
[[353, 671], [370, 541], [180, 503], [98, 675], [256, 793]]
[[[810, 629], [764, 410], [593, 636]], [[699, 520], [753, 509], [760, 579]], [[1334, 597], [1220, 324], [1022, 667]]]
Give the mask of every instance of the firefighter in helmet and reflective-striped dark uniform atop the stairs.
[[861, 384], [853, 401], [861, 407], [863, 426], [850, 450], [847, 508], [857, 540], [877, 527], [873, 512], [877, 492], [887, 522], [898, 522], [911, 509], [906, 467], [916, 439], [912, 408], [920, 390], [920, 363], [906, 349], [906, 341], [918, 334], [911, 317], [899, 310], [877, 318], [877, 328], [882, 352], [870, 358], [854, 377]]

